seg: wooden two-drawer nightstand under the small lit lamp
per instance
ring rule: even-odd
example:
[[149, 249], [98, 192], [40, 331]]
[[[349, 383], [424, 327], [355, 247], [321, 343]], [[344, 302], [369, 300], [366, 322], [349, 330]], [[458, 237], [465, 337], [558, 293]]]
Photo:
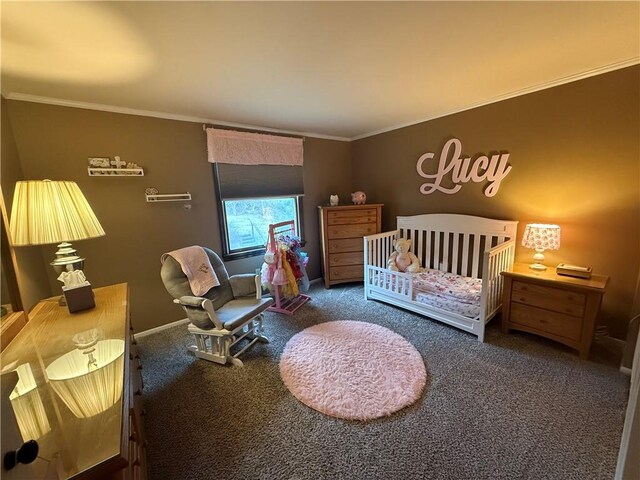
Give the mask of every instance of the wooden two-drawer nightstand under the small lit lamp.
[[502, 331], [522, 330], [575, 348], [589, 357], [596, 318], [609, 277], [589, 280], [557, 275], [555, 267], [537, 271], [516, 263], [502, 272]]

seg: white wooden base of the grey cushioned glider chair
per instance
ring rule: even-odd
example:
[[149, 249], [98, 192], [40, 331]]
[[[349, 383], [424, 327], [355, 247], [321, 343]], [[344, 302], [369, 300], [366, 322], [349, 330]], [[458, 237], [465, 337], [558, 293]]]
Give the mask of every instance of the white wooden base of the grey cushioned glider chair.
[[[196, 357], [224, 365], [229, 362], [232, 365], [242, 367], [244, 364], [238, 357], [256, 342], [269, 343], [262, 327], [263, 315], [257, 315], [249, 322], [233, 331], [229, 330], [203, 330], [193, 324], [189, 324], [189, 331], [195, 337], [196, 344], [189, 347]], [[240, 340], [247, 338], [250, 342], [235, 354], [231, 353]]]

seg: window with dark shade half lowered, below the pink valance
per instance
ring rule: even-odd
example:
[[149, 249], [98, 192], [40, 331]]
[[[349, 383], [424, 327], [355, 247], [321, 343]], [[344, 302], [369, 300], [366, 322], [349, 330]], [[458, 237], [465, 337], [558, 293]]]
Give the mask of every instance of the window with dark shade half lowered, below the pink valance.
[[224, 260], [261, 255], [269, 225], [293, 220], [302, 237], [302, 167], [214, 163]]

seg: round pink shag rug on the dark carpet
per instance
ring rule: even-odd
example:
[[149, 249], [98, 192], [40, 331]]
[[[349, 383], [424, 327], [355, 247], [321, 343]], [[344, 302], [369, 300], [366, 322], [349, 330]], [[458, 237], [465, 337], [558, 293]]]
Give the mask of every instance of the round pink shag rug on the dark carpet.
[[427, 371], [413, 345], [388, 328], [340, 320], [294, 335], [280, 375], [305, 405], [332, 417], [371, 420], [415, 402]]

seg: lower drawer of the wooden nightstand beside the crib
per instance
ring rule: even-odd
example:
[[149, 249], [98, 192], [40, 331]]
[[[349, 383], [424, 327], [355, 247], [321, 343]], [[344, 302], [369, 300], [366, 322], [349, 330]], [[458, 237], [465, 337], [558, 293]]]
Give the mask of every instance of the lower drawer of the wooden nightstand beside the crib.
[[519, 303], [511, 304], [510, 321], [571, 340], [582, 336], [582, 318]]

